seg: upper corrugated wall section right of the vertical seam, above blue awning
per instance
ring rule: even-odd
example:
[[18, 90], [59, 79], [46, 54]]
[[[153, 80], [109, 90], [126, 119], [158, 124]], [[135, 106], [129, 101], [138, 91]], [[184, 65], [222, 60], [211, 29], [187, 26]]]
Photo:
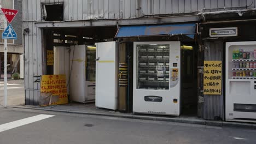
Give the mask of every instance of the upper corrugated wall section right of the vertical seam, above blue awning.
[[[142, 15], [193, 13], [255, 8], [254, 0], [141, 0]], [[245, 9], [245, 8], [241, 8]]]

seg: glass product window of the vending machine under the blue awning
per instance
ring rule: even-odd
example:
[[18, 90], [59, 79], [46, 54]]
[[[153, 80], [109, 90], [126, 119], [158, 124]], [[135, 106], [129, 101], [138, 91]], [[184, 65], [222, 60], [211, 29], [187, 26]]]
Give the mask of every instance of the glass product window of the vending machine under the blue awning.
[[137, 45], [137, 89], [169, 89], [170, 45]]

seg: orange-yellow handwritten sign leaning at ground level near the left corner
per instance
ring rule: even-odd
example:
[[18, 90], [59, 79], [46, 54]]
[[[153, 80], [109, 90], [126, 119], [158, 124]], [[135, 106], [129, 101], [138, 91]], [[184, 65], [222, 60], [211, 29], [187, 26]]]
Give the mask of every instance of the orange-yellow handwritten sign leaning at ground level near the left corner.
[[40, 86], [40, 106], [67, 104], [65, 75], [42, 75]]

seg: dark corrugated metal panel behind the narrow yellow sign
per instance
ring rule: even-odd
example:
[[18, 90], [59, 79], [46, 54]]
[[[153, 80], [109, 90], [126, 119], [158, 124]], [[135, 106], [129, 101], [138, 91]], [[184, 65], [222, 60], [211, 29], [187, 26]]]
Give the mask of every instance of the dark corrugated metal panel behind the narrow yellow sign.
[[[205, 43], [205, 61], [223, 61], [222, 41]], [[224, 70], [223, 70], [224, 71]], [[224, 73], [223, 73], [224, 74]], [[224, 75], [222, 74], [222, 95], [204, 95], [203, 118], [213, 120], [215, 117], [224, 119]]]

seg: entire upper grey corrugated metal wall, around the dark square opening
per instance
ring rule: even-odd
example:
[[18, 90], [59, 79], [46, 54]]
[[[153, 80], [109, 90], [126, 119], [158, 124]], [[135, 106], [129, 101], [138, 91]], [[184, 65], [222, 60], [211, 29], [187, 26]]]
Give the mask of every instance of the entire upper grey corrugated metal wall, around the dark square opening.
[[[129, 19], [143, 15], [182, 14], [255, 8], [255, 0], [24, 0], [24, 21], [40, 21], [40, 3], [64, 4], [64, 20]], [[138, 7], [139, 5], [139, 7]], [[141, 8], [137, 11], [137, 8]]]

